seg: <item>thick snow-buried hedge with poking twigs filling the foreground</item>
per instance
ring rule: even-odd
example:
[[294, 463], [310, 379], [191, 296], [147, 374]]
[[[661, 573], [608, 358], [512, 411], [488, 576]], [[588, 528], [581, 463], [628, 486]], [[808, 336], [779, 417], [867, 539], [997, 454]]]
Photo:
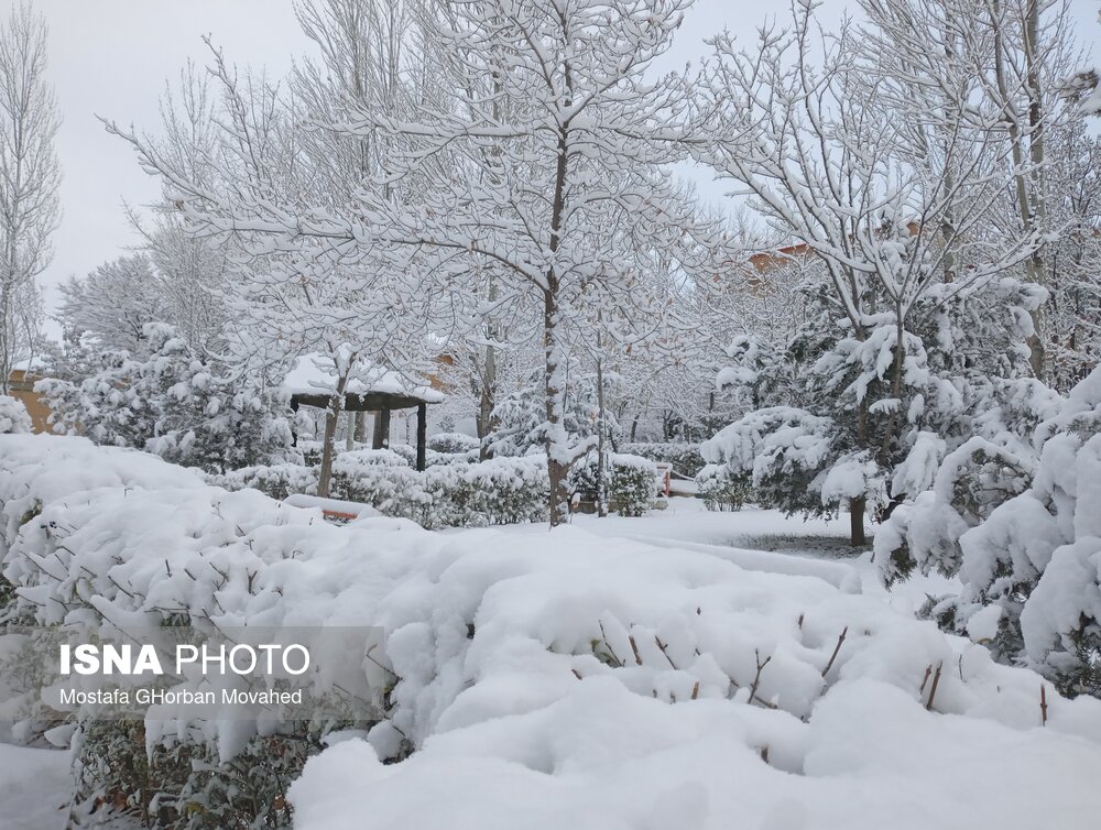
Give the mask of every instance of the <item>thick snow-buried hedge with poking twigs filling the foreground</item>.
[[384, 668], [344, 666], [379, 695], [366, 735], [172, 720], [128, 732], [69, 713], [78, 806], [129, 799], [173, 830], [286, 827], [287, 802], [298, 830], [488, 817], [527, 830], [579, 817], [924, 830], [975, 794], [985, 823], [1024, 830], [1039, 790], [1051, 826], [1101, 809], [1082, 777], [1101, 765], [1101, 702], [1049, 690], [1042, 710], [1037, 675], [855, 592], [847, 565], [788, 558], [776, 574], [734, 548], [577, 527], [335, 527], [143, 454], [48, 436], [0, 436], [0, 516], [9, 620], [386, 635]]

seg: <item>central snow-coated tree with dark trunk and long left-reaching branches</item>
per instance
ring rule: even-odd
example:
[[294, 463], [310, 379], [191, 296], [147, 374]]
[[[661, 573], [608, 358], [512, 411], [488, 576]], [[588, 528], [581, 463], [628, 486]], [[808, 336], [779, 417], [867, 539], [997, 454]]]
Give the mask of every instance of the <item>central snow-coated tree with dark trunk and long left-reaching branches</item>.
[[[467, 301], [454, 286], [480, 265], [493, 263], [497, 276], [497, 298], [486, 302], [532, 297], [557, 524], [567, 507], [566, 473], [580, 451], [562, 425], [571, 306], [591, 282], [614, 284], [630, 297], [632, 256], [659, 251], [677, 261], [695, 249], [686, 234], [690, 206], [669, 186], [667, 171], [676, 160], [671, 142], [682, 138], [676, 113], [685, 85], [676, 77], [646, 79], [685, 7], [685, 0], [531, 0], [433, 8], [425, 31], [448, 74], [430, 95], [422, 90], [413, 114], [389, 112], [373, 99], [353, 108], [345, 134], [381, 139], [385, 156], [381, 173], [348, 206], [288, 198], [282, 190], [294, 176], [276, 181], [266, 171], [248, 183], [248, 198], [211, 190], [153, 142], [127, 138], [179, 195], [197, 232], [263, 237], [254, 251], [285, 255], [282, 267], [264, 270], [253, 283], [273, 295], [263, 306], [264, 325], [284, 346], [307, 339], [303, 320], [313, 320], [334, 347], [348, 343], [360, 356], [381, 351], [407, 370], [423, 349], [411, 321], [428, 331], [442, 318], [466, 323]], [[254, 132], [246, 119], [233, 135]], [[448, 167], [444, 159], [458, 162]], [[593, 230], [607, 227], [632, 244], [600, 250]], [[426, 307], [440, 298], [453, 314]], [[341, 331], [352, 327], [353, 337]], [[372, 338], [367, 347], [364, 330]]]

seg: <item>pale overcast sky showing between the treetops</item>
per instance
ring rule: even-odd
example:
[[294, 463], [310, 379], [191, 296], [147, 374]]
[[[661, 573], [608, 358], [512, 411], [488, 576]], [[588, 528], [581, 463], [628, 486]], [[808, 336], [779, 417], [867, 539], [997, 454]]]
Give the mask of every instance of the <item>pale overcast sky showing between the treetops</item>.
[[[0, 0], [3, 17], [13, 0]], [[274, 76], [291, 67], [308, 43], [291, 0], [31, 0], [50, 25], [51, 78], [64, 123], [57, 151], [64, 167], [64, 217], [56, 255], [41, 277], [46, 303], [69, 274], [83, 275], [134, 244], [122, 210], [155, 199], [157, 185], [134, 161], [129, 145], [108, 135], [97, 116], [157, 125], [157, 99], [188, 57], [205, 61], [210, 34], [238, 65], [266, 66]], [[1072, 0], [1079, 35], [1101, 52], [1098, 0]], [[846, 0], [829, 0], [836, 19]], [[7, 8], [6, 8], [7, 7]], [[677, 34], [677, 63], [698, 57], [702, 40], [728, 28], [752, 37], [767, 15], [785, 12], [788, 0], [698, 0]], [[1087, 40], [1090, 39], [1090, 40]], [[51, 327], [53, 328], [53, 327]]]

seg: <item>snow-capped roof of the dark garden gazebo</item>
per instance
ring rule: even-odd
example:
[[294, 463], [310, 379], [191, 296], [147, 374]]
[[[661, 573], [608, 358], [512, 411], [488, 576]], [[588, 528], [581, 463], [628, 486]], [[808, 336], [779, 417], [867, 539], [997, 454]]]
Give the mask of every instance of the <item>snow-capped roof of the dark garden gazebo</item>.
[[[303, 354], [287, 372], [283, 390], [292, 403], [328, 408], [337, 387], [333, 359]], [[438, 404], [444, 394], [428, 383], [412, 382], [405, 375], [373, 363], [360, 365], [345, 387], [344, 408], [349, 412], [408, 409], [421, 404]]]

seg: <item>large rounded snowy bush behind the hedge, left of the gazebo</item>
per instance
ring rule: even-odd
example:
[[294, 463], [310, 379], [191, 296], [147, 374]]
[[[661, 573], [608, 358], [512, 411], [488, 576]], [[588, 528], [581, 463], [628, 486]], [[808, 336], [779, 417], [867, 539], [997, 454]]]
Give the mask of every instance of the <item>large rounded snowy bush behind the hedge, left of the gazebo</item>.
[[142, 352], [99, 353], [95, 372], [78, 382], [39, 381], [55, 432], [214, 472], [284, 455], [286, 401], [261, 378], [227, 374], [163, 324], [146, 325], [142, 342]]

